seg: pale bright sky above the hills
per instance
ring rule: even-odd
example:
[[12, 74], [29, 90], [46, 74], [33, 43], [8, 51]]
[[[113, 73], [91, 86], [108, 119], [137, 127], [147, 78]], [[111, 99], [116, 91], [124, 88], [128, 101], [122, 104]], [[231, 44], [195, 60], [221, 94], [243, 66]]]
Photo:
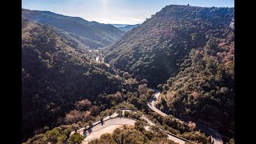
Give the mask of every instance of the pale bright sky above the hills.
[[234, 7], [234, 0], [22, 0], [22, 8], [111, 24], [142, 23], [172, 4], [204, 7]]

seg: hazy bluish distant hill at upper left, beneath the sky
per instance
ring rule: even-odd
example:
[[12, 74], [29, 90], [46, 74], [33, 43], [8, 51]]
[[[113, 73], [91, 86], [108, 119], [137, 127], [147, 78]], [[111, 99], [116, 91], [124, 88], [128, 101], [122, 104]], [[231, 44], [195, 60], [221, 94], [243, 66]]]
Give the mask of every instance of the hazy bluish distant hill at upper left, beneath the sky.
[[50, 11], [22, 9], [22, 18], [57, 27], [85, 46], [89, 46], [90, 49], [110, 46], [124, 34], [122, 30], [110, 24], [88, 22], [82, 18], [55, 14]]

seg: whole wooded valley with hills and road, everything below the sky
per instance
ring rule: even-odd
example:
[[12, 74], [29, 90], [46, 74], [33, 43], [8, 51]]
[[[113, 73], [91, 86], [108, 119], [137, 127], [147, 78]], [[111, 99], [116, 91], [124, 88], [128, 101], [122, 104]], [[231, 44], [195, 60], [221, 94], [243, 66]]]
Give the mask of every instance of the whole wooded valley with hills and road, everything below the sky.
[[234, 8], [136, 26], [22, 9], [22, 142], [234, 141]]

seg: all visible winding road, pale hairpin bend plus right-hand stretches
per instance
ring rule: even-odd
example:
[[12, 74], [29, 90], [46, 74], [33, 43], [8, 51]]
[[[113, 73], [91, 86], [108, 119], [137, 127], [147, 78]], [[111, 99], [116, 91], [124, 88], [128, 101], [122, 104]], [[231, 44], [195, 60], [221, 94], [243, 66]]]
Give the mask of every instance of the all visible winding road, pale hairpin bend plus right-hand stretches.
[[[161, 110], [158, 110], [158, 108], [155, 107], [155, 102], [157, 101], [157, 99], [160, 95], [160, 92], [158, 92], [157, 90], [155, 90], [155, 92], [156, 93], [154, 94], [154, 98], [150, 102], [148, 102], [147, 105], [150, 107], [151, 110], [154, 110], [155, 112], [157, 112], [158, 114], [161, 114], [162, 116], [166, 116], [167, 114], [163, 113]], [[135, 110], [122, 109], [122, 114], [124, 114], [125, 111], [137, 113], [137, 111], [135, 111]], [[147, 118], [146, 115], [142, 114], [142, 118], [145, 119], [147, 122], [146, 126], [145, 126], [146, 130], [149, 130], [150, 126], [158, 126], [154, 122], [150, 121], [150, 119]], [[180, 120], [178, 118], [176, 118], [176, 119], [178, 120], [178, 122], [182, 122], [182, 120]], [[118, 114], [116, 112], [114, 112], [114, 114], [112, 114], [111, 116], [104, 117], [103, 123], [101, 123], [101, 121], [98, 120], [98, 121], [92, 123], [93, 126], [91, 128], [89, 126], [83, 127], [82, 129], [77, 130], [77, 132], [86, 137], [82, 141], [82, 144], [86, 144], [95, 138], [100, 138], [100, 136], [102, 134], [113, 133], [113, 131], [118, 127], [122, 127], [125, 125], [126, 126], [134, 126], [134, 123], [136, 121], [138, 121], [138, 120], [133, 119], [133, 118], [123, 118], [123, 117], [118, 118]], [[197, 127], [199, 130], [202, 130], [203, 132], [210, 134], [211, 139], [212, 139], [211, 143], [223, 144], [222, 138], [219, 136], [218, 132], [216, 132], [200, 123], [196, 123], [196, 124], [197, 124]], [[181, 137], [178, 137], [177, 135], [171, 134], [170, 132], [164, 130], [161, 126], [158, 126], [158, 128], [160, 130], [164, 131], [168, 135], [168, 139], [173, 140], [174, 142], [178, 142], [180, 144], [185, 144], [186, 142], [190, 142], [185, 138], [181, 138]], [[85, 129], [86, 129], [86, 131], [84, 132]], [[74, 131], [71, 132], [71, 134], [74, 134], [74, 133], [75, 133]], [[194, 142], [191, 142], [191, 143], [194, 143]]]

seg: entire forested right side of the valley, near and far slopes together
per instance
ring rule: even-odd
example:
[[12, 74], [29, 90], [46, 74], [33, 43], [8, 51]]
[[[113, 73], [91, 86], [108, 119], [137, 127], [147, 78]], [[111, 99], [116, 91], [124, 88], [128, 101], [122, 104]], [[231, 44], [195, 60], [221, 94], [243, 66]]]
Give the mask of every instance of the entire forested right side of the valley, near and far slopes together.
[[105, 59], [158, 86], [160, 110], [234, 131], [234, 8], [166, 6]]

